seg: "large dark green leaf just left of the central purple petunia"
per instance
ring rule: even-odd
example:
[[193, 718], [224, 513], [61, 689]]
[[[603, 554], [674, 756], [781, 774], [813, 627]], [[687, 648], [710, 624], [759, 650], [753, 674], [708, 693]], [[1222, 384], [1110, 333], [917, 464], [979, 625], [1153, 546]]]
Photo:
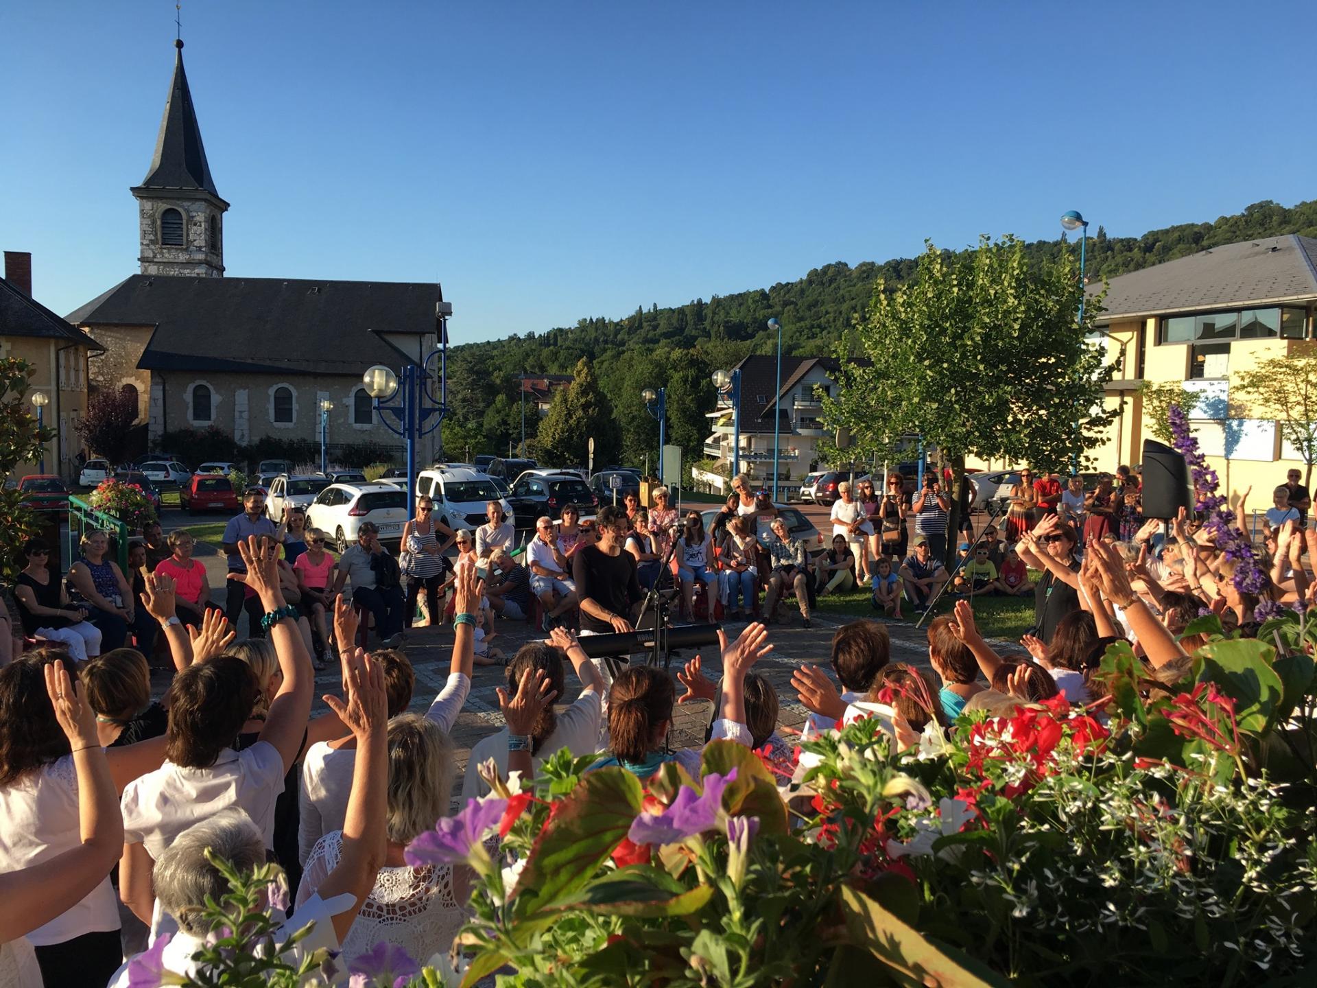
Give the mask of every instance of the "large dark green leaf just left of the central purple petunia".
[[622, 768], [586, 775], [556, 804], [518, 879], [514, 909], [527, 917], [576, 894], [607, 860], [640, 813], [640, 780]]

